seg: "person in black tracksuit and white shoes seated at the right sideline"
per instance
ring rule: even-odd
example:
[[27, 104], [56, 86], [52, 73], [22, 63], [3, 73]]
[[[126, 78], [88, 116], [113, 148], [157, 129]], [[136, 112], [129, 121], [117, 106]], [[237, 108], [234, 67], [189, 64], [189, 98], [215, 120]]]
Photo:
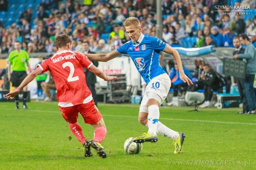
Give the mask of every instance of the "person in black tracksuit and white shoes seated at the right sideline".
[[204, 74], [201, 74], [200, 78], [204, 83], [204, 103], [199, 107], [205, 108], [212, 106], [212, 92], [222, 88], [222, 82], [216, 75], [217, 73], [212, 70], [209, 64], [203, 66]]

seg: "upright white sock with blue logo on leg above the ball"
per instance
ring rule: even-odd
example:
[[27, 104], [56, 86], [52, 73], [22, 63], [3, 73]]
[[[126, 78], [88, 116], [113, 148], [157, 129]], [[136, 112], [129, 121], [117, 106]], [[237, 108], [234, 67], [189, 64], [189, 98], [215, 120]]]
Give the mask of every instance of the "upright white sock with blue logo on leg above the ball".
[[159, 115], [159, 107], [157, 105], [148, 106], [148, 133], [156, 135]]

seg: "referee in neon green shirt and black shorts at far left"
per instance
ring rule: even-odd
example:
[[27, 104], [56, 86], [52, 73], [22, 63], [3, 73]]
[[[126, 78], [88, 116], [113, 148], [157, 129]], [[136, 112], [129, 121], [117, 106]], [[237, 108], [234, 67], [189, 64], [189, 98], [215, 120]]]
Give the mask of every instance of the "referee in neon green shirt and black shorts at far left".
[[[28, 66], [28, 70], [31, 72], [30, 64], [28, 63], [29, 56], [28, 53], [24, 50], [21, 50], [21, 43], [20, 41], [14, 42], [14, 51], [11, 51], [9, 54], [9, 64], [8, 64], [8, 79], [12, 82], [12, 86], [15, 89], [20, 86], [21, 82], [27, 76], [26, 73], [26, 65]], [[12, 66], [12, 74], [10, 72]], [[23, 105], [24, 109], [28, 109], [26, 106], [26, 100], [28, 96], [28, 86], [23, 88]], [[16, 109], [19, 109], [19, 97], [18, 95], [14, 97], [16, 103]]]

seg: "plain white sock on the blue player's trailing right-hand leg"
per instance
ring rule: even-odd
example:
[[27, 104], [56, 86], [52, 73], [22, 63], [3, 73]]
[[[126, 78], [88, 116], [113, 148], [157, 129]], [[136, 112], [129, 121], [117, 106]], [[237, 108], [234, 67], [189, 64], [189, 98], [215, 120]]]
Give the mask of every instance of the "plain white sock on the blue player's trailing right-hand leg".
[[[145, 125], [146, 127], [148, 127], [148, 123]], [[166, 127], [164, 124], [162, 124], [160, 121], [158, 121], [157, 124], [157, 128], [156, 128], [156, 132], [159, 135], [162, 135], [164, 137], [168, 137], [171, 138], [172, 140], [176, 140], [178, 139], [178, 137], [180, 136], [180, 134], [176, 131], [173, 131], [172, 129]]]

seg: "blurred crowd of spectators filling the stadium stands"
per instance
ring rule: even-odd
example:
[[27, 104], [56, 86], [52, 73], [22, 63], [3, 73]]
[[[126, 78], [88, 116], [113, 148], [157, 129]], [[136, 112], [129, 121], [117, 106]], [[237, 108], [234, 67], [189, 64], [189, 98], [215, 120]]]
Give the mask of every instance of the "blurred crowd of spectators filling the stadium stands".
[[[81, 51], [82, 41], [88, 41], [91, 51], [110, 51], [130, 39], [122, 25], [130, 16], [139, 18], [144, 35], [156, 36], [156, 0], [59, 2], [1, 0], [0, 53], [10, 53], [16, 40], [22, 42], [22, 49], [28, 53], [52, 53], [54, 39], [62, 33], [72, 37], [74, 50]], [[215, 9], [226, 3], [162, 0], [163, 40], [172, 47], [233, 47], [233, 37], [246, 33], [256, 46], [256, 16], [228, 15], [223, 9]], [[235, 1], [234, 6], [240, 5], [239, 0]], [[255, 7], [253, 4], [251, 10]]]

